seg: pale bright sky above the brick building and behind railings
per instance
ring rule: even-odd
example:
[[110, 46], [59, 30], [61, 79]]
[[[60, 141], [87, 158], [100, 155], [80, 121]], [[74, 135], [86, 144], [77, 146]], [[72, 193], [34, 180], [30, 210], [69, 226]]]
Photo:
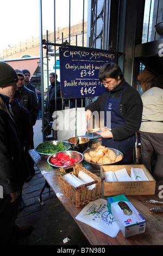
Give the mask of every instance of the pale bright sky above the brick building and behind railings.
[[[87, 0], [84, 1], [86, 19]], [[0, 1], [0, 52], [40, 36], [39, 0]], [[55, 0], [55, 29], [69, 24], [69, 0]], [[71, 0], [71, 23], [83, 19], [83, 1]], [[54, 30], [54, 0], [42, 0], [42, 31]]]

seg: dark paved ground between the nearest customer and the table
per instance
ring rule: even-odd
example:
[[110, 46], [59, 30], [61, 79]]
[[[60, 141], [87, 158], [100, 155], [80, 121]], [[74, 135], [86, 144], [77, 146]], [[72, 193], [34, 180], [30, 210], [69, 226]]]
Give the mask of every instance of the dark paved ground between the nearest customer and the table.
[[[24, 184], [22, 197], [25, 207], [19, 212], [16, 224], [33, 225], [30, 235], [22, 237], [17, 245], [89, 245], [76, 222], [66, 211], [55, 193], [45, 188], [42, 200], [45, 205], [41, 206], [38, 199], [45, 185], [45, 179], [35, 167], [35, 175]], [[63, 242], [68, 237], [66, 243]]]

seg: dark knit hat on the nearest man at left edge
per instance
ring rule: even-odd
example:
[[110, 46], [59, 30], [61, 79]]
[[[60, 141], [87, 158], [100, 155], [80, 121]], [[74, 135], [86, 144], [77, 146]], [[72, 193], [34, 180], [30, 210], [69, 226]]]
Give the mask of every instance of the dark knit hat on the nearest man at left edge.
[[0, 87], [10, 86], [18, 82], [15, 70], [7, 63], [0, 62]]

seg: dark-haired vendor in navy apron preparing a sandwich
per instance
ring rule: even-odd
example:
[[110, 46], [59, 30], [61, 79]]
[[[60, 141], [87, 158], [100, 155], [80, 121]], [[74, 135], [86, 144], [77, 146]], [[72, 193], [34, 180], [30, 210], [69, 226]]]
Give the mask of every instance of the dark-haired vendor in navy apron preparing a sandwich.
[[86, 107], [86, 119], [90, 120], [94, 111], [111, 112], [111, 131], [98, 133], [102, 136], [102, 145], [120, 150], [124, 154], [121, 163], [133, 163], [135, 132], [139, 130], [142, 118], [142, 100], [135, 88], [123, 78], [120, 67], [115, 63], [106, 63], [99, 70], [99, 81], [106, 88], [102, 96]]

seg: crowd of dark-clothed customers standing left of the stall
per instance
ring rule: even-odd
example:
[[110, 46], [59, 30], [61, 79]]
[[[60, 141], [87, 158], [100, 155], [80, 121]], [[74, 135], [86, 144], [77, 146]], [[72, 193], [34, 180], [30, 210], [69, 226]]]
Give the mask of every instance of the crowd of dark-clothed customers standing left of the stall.
[[[55, 108], [55, 74], [49, 75], [49, 102], [45, 110], [52, 120]], [[49, 106], [49, 107], [48, 107]], [[57, 110], [61, 109], [60, 83], [57, 81]], [[0, 62], [0, 244], [14, 245], [17, 237], [32, 231], [31, 226], [17, 227], [18, 211], [23, 210], [22, 188], [35, 174], [28, 151], [34, 149], [33, 126], [42, 118], [41, 93], [30, 81], [30, 71], [14, 70]]]

